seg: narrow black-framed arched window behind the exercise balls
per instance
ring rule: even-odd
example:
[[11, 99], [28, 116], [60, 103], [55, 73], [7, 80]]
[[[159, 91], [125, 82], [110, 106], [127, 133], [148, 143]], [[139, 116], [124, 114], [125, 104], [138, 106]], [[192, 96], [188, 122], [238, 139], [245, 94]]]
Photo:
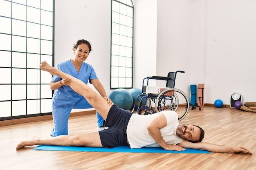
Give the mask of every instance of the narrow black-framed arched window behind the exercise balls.
[[111, 89], [132, 88], [133, 4], [112, 0]]

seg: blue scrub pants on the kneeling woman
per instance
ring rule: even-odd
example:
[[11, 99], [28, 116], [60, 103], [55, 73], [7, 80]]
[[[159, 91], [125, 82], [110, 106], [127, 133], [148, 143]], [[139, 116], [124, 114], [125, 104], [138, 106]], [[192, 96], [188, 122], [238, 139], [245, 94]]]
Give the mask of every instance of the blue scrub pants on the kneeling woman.
[[[60, 97], [60, 96], [59, 96]], [[54, 128], [51, 132], [53, 137], [59, 135], [68, 135], [68, 119], [70, 117], [70, 112], [72, 109], [85, 109], [85, 108], [92, 108], [92, 106], [87, 102], [84, 97], [79, 97], [76, 99], [53, 99], [52, 104], [52, 118], [54, 121]], [[62, 96], [64, 97], [64, 96]], [[57, 100], [57, 101], [56, 101]], [[78, 101], [77, 101], [78, 100]], [[77, 102], [76, 102], [77, 101]], [[58, 106], [54, 104], [55, 102], [58, 103]], [[98, 127], [103, 126], [103, 117], [96, 112], [97, 115], [97, 124]]]

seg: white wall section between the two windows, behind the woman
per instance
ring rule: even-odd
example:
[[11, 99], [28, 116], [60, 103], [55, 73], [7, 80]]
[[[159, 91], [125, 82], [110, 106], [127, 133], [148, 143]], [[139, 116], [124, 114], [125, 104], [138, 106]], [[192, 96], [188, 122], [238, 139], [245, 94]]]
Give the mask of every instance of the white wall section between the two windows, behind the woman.
[[110, 31], [110, 0], [55, 0], [55, 66], [74, 58], [72, 44], [77, 40], [88, 40], [92, 51], [85, 62], [110, 95]]

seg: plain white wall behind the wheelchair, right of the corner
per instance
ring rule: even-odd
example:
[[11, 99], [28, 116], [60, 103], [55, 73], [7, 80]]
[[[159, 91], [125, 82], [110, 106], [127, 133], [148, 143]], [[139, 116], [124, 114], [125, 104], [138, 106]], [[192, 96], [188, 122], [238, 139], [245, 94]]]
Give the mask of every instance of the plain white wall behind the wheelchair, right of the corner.
[[205, 84], [205, 103], [230, 104], [234, 92], [243, 102], [255, 101], [255, 1], [159, 0], [157, 5], [157, 73], [175, 63], [172, 68], [186, 72], [176, 87], [190, 96], [190, 84]]

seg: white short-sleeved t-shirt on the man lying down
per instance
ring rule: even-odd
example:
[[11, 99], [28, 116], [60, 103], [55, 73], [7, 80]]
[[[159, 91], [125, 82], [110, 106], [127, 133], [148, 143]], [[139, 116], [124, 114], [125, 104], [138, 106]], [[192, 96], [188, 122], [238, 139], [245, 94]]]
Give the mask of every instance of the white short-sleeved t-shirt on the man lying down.
[[166, 144], [176, 145], [183, 140], [176, 135], [176, 129], [179, 125], [179, 121], [178, 115], [175, 111], [164, 110], [152, 115], [133, 114], [129, 120], [126, 131], [130, 148], [160, 147], [155, 139], [149, 135], [147, 129], [150, 122], [160, 114], [163, 114], [167, 120], [167, 125], [160, 129], [161, 135]]

